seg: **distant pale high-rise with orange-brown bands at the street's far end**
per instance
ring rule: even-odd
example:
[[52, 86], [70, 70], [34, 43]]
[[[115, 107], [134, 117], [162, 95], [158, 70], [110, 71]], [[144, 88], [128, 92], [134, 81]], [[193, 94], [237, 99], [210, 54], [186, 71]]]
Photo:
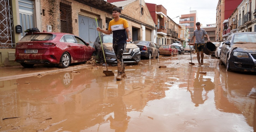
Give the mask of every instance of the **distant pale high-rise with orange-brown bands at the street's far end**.
[[[191, 39], [193, 36], [193, 32], [196, 29], [197, 22], [197, 11], [192, 10], [190, 14], [184, 14], [180, 17], [180, 25], [184, 25], [186, 28], [189, 28], [189, 38]], [[194, 39], [191, 45], [195, 45], [196, 40]]]

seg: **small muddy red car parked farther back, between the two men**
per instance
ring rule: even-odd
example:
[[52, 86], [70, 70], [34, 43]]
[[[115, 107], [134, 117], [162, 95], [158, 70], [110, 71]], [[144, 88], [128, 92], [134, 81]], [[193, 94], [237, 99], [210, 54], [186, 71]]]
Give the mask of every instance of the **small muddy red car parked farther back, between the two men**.
[[159, 47], [159, 51], [161, 55], [171, 55], [173, 56], [174, 54], [178, 55], [178, 49], [175, 48], [173, 45], [161, 45]]

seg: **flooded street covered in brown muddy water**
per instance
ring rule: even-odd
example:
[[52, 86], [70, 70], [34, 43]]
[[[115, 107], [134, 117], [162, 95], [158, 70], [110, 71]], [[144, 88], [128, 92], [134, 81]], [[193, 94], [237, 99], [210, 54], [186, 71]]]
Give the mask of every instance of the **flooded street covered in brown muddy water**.
[[0, 81], [0, 131], [256, 131], [256, 75], [227, 72], [207, 55], [201, 67], [196, 54], [192, 60], [189, 53], [141, 60], [125, 66], [122, 81], [105, 76], [103, 66], [44, 74], [59, 68], [2, 68], [1, 77], [12, 79]]

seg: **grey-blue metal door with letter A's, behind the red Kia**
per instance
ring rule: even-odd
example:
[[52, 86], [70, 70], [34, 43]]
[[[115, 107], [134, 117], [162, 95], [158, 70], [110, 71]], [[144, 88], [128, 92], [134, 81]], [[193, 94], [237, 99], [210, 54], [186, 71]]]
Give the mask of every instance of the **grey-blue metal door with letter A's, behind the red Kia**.
[[97, 24], [95, 19], [78, 16], [79, 22], [79, 37], [85, 42], [93, 46], [93, 42], [98, 36]]

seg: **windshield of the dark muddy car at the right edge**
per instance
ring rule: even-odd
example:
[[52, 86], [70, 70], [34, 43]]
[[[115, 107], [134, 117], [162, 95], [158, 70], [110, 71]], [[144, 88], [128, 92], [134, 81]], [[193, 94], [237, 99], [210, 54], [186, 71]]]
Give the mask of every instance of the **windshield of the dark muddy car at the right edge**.
[[237, 34], [234, 35], [234, 44], [247, 44], [255, 43], [256, 44], [256, 34]]

